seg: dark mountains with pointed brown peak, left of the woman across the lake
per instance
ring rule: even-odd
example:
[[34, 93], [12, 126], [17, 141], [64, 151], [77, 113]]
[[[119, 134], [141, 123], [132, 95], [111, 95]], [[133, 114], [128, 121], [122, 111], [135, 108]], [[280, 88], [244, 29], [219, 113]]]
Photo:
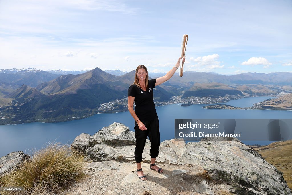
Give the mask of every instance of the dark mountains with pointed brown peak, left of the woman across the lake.
[[[13, 117], [4, 117], [0, 122], [56, 122], [93, 115], [98, 112], [102, 103], [127, 98], [127, 90], [133, 83], [134, 76], [134, 70], [116, 76], [95, 68], [83, 74], [61, 75], [36, 87], [22, 84], [2, 98], [11, 101], [6, 101], [6, 106], [0, 108], [2, 118], [4, 115]], [[168, 101], [172, 95], [157, 86], [155, 96], [157, 101]], [[118, 108], [125, 110], [123, 106]]]

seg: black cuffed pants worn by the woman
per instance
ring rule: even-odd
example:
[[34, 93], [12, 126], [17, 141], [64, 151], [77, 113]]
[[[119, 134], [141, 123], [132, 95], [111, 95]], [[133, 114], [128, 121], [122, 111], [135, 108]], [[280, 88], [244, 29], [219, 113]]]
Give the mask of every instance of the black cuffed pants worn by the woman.
[[151, 142], [150, 147], [150, 157], [156, 158], [158, 156], [158, 150], [160, 145], [159, 136], [159, 122], [158, 117], [150, 121], [143, 121], [143, 124], [147, 130], [142, 131], [139, 129], [137, 122], [135, 121], [135, 138], [136, 138], [136, 148], [135, 148], [135, 161], [136, 163], [141, 163], [142, 152], [146, 143], [147, 136]]

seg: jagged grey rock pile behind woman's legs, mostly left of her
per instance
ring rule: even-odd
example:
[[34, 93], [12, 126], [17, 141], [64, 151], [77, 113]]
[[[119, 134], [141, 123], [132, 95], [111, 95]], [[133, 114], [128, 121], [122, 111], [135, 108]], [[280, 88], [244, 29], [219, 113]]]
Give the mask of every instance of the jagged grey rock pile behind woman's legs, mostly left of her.
[[[72, 148], [82, 150], [87, 156], [85, 161], [93, 160], [93, 162], [102, 161], [134, 161], [135, 151], [135, 133], [131, 132], [129, 127], [121, 123], [113, 123], [109, 127], [103, 127], [93, 136], [81, 134], [77, 136]], [[150, 141], [146, 140], [142, 161], [150, 163]], [[164, 153], [157, 156], [157, 163], [164, 163]]]

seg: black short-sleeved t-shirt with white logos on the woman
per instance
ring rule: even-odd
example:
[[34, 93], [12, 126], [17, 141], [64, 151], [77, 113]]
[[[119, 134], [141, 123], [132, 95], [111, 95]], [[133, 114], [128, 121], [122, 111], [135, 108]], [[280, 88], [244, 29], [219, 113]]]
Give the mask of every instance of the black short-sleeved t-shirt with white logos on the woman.
[[155, 83], [156, 79], [148, 80], [148, 89], [146, 91], [135, 84], [132, 84], [128, 89], [128, 96], [135, 97], [135, 113], [142, 122], [153, 120], [157, 117], [153, 101], [153, 88], [155, 87]]

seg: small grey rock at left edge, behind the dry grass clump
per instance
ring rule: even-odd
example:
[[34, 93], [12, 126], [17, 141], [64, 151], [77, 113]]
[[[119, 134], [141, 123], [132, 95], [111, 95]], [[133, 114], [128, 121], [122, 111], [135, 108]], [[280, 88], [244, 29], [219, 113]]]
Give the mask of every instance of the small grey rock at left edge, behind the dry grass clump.
[[29, 156], [22, 151], [11, 152], [0, 158], [0, 176], [6, 175], [20, 166], [24, 161], [28, 161]]

